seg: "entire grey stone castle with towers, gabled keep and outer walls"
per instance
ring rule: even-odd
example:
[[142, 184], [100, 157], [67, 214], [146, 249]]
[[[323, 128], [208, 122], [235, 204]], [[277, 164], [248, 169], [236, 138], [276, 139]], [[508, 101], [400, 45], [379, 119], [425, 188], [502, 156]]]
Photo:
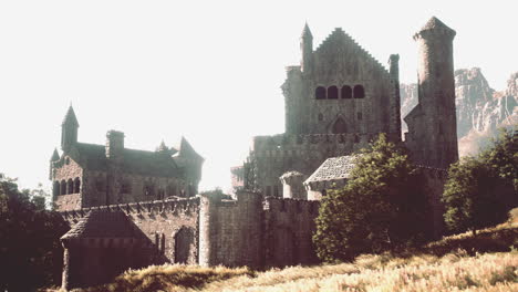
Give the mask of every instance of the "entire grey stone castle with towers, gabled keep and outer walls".
[[200, 157], [178, 147], [127, 149], [124, 134], [106, 145], [77, 142], [72, 107], [62, 124], [63, 150], [51, 158], [53, 201], [71, 225], [63, 288], [110, 281], [153, 263], [248, 265], [260, 269], [317, 263], [312, 246], [319, 200], [345, 184], [352, 154], [380, 133], [404, 143], [424, 171], [426, 229], [441, 234], [445, 170], [458, 158], [453, 39], [436, 18], [414, 35], [419, 50], [418, 104], [402, 139], [398, 55], [388, 70], [341, 29], [313, 50], [308, 25], [302, 60], [282, 85], [286, 133], [256, 136], [250, 155], [231, 169], [237, 194], [198, 195]]

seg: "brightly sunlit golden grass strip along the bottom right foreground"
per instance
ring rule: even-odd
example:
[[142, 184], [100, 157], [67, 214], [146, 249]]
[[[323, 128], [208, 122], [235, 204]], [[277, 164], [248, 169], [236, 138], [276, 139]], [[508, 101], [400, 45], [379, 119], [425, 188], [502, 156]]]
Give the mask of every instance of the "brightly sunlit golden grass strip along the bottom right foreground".
[[[518, 291], [518, 253], [411, 259], [362, 255], [354, 264], [289, 268], [207, 284], [207, 292]], [[302, 271], [300, 271], [300, 270]], [[321, 271], [320, 269], [324, 270]], [[343, 273], [345, 271], [345, 273]], [[303, 278], [299, 273], [304, 273]], [[195, 290], [190, 290], [195, 291]]]

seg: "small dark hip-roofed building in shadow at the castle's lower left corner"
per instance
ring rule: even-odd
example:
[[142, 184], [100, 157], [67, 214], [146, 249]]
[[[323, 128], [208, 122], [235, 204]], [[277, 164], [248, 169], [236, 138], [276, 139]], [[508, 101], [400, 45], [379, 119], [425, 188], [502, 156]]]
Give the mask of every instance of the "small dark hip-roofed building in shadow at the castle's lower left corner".
[[164, 249], [123, 211], [92, 210], [61, 241], [65, 290], [106, 283], [130, 268], [167, 262]]

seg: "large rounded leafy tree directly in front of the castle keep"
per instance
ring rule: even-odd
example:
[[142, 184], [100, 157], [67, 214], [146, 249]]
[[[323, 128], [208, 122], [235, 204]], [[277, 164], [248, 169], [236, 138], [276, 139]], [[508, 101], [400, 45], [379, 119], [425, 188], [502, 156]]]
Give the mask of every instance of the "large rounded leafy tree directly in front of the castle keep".
[[356, 157], [345, 187], [323, 197], [313, 236], [318, 255], [346, 261], [416, 238], [423, 212], [415, 179], [406, 150], [381, 134]]

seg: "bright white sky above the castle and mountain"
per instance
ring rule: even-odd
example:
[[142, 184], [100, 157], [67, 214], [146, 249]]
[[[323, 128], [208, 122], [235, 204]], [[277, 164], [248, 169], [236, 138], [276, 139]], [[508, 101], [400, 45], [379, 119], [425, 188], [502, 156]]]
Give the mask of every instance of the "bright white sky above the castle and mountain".
[[343, 28], [383, 64], [401, 55], [416, 80], [412, 35], [436, 15], [457, 31], [456, 69], [478, 66], [496, 90], [518, 71], [516, 0], [1, 1], [0, 173], [48, 181], [70, 103], [81, 142], [153, 150], [184, 135], [205, 158], [201, 189], [229, 186], [253, 135], [283, 132], [279, 86], [300, 60], [308, 21], [317, 48]]

